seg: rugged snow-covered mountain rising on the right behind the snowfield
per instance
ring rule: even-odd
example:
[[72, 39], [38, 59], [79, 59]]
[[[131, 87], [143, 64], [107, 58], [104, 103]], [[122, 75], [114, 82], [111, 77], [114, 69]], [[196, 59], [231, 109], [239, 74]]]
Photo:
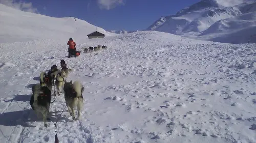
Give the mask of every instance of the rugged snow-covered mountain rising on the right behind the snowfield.
[[[255, 29], [255, 22], [253, 21], [256, 20], [254, 16], [256, 12], [255, 5], [255, 0], [203, 0], [182, 9], [175, 15], [161, 17], [146, 30], [216, 42], [256, 42], [255, 38], [251, 38], [256, 34], [253, 33]], [[244, 17], [247, 18], [244, 19]], [[241, 23], [246, 23], [246, 26], [235, 27], [236, 25], [243, 25]], [[232, 26], [229, 24], [232, 24]], [[236, 31], [233, 28], [236, 28]], [[245, 31], [250, 31], [250, 33]], [[240, 32], [244, 38], [234, 40], [233, 36], [241, 36]], [[225, 38], [223, 39], [223, 37]]]

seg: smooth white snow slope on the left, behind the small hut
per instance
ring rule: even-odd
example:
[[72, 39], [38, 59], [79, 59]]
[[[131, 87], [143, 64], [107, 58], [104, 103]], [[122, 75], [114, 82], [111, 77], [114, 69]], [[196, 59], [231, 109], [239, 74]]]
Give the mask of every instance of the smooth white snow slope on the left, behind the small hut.
[[[72, 37], [76, 41], [88, 39], [96, 26], [74, 17], [55, 18], [19, 11], [0, 4], [0, 42], [29, 41], [57, 38], [65, 42]], [[99, 32], [106, 34], [100, 27]]]

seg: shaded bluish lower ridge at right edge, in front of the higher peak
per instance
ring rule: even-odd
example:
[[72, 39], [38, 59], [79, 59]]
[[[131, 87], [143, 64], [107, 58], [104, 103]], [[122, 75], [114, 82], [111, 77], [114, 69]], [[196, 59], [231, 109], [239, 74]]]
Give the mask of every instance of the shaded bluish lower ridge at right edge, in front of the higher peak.
[[223, 19], [203, 31], [199, 38], [228, 43], [256, 43], [256, 12]]

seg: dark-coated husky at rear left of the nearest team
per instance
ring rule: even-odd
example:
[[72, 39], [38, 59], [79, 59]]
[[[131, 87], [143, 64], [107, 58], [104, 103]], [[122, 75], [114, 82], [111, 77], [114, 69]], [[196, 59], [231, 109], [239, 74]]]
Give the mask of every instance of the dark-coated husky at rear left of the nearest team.
[[50, 113], [50, 102], [51, 102], [51, 90], [44, 86], [41, 87], [39, 83], [33, 85], [32, 87], [33, 95], [30, 98], [30, 106], [35, 111], [37, 118], [39, 118], [39, 113], [42, 114], [42, 120], [44, 121], [45, 127], [47, 127], [46, 121]]

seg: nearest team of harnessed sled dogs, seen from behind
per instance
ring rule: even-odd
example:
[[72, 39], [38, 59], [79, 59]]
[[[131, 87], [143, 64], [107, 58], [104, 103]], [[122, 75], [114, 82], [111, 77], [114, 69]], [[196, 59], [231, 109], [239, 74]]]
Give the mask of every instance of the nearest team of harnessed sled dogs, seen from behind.
[[[35, 111], [37, 117], [42, 115], [44, 125], [47, 127], [47, 120], [50, 113], [50, 103], [52, 99], [52, 86], [56, 85], [57, 93], [59, 95], [64, 91], [64, 97], [70, 116], [73, 120], [80, 119], [81, 110], [83, 109], [84, 87], [79, 80], [67, 82], [66, 79], [72, 69], [67, 68], [64, 60], [60, 60], [61, 70], [59, 71], [56, 65], [52, 65], [51, 70], [46, 74], [40, 73], [40, 83], [33, 85], [32, 96], [30, 98], [30, 105]], [[78, 116], [75, 118], [75, 108], [77, 108]]]

